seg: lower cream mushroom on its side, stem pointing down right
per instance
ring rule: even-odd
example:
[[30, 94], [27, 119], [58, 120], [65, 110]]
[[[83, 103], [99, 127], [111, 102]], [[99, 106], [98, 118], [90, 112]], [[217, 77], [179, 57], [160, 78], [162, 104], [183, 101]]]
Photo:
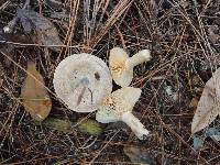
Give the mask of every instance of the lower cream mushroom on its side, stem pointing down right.
[[113, 91], [99, 107], [96, 113], [96, 120], [101, 123], [123, 121], [140, 140], [143, 140], [144, 135], [148, 135], [148, 131], [132, 114], [132, 109], [140, 96], [140, 88], [123, 87]]

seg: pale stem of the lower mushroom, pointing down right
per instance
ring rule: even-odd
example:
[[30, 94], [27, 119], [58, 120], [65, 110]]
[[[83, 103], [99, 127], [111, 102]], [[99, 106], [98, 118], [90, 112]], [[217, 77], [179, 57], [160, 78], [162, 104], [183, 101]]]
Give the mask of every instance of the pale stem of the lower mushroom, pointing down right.
[[148, 131], [144, 128], [144, 125], [140, 122], [140, 120], [134, 117], [131, 112], [127, 112], [121, 117], [121, 120], [125, 122], [134, 134], [140, 139], [143, 140], [144, 135], [148, 135]]

